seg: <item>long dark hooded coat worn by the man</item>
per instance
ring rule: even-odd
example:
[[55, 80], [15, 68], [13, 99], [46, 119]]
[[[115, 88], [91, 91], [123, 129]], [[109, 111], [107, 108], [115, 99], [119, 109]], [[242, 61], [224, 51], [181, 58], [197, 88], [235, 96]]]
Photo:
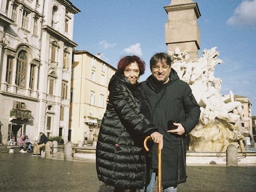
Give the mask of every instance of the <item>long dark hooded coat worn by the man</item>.
[[[140, 85], [147, 95], [150, 104], [151, 122], [158, 127], [164, 136], [162, 149], [162, 185], [163, 188], [177, 186], [186, 182], [186, 134], [197, 125], [200, 108], [187, 83], [179, 80], [175, 70], [171, 69], [170, 81], [161, 90], [156, 88], [153, 77], [148, 77]], [[168, 133], [168, 121], [174, 120], [182, 124], [186, 130], [183, 136]], [[158, 168], [157, 144], [151, 149], [151, 165]]]

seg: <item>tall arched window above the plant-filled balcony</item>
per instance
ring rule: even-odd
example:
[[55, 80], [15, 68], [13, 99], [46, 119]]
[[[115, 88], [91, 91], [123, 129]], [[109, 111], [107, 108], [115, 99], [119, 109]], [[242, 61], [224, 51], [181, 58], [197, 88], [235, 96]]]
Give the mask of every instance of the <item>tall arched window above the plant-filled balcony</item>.
[[17, 86], [25, 88], [27, 76], [27, 52], [20, 51], [17, 60], [16, 79]]

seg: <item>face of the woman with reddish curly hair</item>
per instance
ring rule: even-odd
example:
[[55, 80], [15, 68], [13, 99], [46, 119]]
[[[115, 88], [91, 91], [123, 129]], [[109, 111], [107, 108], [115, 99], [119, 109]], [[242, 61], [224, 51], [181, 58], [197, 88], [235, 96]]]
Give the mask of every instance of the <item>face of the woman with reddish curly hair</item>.
[[133, 62], [124, 69], [124, 77], [126, 77], [130, 83], [135, 84], [140, 77], [140, 69], [137, 62]]

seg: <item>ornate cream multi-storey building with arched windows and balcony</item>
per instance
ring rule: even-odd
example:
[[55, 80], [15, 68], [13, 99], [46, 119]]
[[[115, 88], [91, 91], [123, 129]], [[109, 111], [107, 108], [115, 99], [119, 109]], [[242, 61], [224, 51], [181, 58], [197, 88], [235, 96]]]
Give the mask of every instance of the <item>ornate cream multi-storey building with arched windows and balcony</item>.
[[0, 0], [2, 143], [22, 134], [67, 140], [74, 15], [68, 0]]

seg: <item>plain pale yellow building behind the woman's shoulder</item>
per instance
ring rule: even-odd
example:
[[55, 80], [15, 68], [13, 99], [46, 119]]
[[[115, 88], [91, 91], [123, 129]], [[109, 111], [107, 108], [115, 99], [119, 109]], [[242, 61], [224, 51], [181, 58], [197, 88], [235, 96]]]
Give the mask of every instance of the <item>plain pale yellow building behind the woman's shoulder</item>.
[[73, 143], [92, 143], [98, 139], [109, 94], [108, 83], [115, 72], [100, 54], [74, 52], [69, 123]]

